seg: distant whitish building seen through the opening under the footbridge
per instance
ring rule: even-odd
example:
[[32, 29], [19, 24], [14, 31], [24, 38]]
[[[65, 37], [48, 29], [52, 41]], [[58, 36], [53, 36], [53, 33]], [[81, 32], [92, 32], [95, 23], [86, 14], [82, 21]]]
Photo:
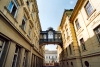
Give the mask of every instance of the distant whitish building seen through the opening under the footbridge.
[[45, 50], [45, 66], [54, 66], [58, 63], [57, 51]]

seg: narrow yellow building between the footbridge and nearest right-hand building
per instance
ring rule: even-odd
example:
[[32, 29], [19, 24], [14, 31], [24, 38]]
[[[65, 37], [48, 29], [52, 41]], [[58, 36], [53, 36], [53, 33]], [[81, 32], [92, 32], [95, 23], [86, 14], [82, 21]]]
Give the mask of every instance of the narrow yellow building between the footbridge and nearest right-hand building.
[[60, 54], [61, 67], [81, 67], [80, 53], [75, 37], [74, 27], [69, 21], [72, 12], [72, 9], [64, 11], [61, 24], [59, 26], [63, 40], [63, 49]]

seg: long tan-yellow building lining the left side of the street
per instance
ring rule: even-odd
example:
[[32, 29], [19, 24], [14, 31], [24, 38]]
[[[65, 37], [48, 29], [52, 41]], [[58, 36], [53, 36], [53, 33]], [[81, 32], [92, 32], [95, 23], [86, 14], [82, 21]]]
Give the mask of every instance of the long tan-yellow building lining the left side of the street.
[[41, 25], [36, 0], [0, 0], [0, 67], [40, 67]]

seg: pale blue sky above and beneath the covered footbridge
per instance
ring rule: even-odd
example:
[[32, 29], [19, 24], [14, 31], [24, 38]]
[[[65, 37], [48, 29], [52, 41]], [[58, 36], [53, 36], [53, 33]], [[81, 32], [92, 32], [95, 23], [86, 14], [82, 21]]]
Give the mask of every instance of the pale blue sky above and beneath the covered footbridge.
[[[42, 31], [53, 27], [58, 29], [65, 9], [74, 9], [77, 0], [37, 0], [39, 18]], [[56, 45], [46, 46], [49, 50], [55, 50]]]

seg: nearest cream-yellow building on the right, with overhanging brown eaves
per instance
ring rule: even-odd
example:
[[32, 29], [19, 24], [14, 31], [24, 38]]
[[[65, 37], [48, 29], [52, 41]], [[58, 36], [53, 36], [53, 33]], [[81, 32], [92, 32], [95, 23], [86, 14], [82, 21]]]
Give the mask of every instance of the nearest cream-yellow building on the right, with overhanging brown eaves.
[[72, 16], [83, 67], [100, 67], [100, 0], [78, 0]]

